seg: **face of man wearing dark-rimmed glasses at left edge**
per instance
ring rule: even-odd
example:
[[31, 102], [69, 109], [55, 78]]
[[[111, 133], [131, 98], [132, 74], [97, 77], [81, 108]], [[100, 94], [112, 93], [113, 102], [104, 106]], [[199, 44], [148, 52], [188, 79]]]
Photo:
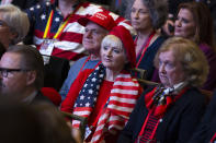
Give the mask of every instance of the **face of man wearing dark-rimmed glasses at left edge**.
[[[21, 55], [14, 52], [5, 52], [0, 60], [0, 94], [18, 96], [22, 95], [27, 86], [27, 72], [12, 71], [21, 70]], [[7, 72], [3, 69], [11, 69]], [[5, 73], [7, 72], [7, 73]]]

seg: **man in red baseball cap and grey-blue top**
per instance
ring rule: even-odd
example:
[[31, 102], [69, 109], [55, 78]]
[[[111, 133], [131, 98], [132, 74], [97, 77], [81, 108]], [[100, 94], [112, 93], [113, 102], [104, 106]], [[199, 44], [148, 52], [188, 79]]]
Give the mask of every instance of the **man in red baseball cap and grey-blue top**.
[[115, 26], [113, 17], [106, 12], [98, 12], [90, 17], [81, 17], [78, 20], [78, 23], [86, 27], [82, 45], [89, 52], [89, 56], [79, 59], [71, 65], [68, 78], [60, 90], [62, 99], [65, 99], [70, 85], [79, 75], [80, 71], [86, 69], [93, 71], [100, 64], [101, 41], [109, 34], [109, 31]]

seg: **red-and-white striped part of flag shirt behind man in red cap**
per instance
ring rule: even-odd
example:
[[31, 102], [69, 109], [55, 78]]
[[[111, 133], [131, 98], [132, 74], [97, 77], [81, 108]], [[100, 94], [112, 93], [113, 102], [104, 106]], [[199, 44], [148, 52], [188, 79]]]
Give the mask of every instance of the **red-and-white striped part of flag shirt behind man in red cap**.
[[[84, 27], [80, 25], [77, 20], [87, 16], [93, 15], [96, 12], [106, 11], [101, 5], [92, 4], [89, 2], [81, 3], [78, 10], [73, 13], [71, 19], [69, 20], [68, 25], [65, 27], [61, 36], [57, 41], [54, 43], [54, 49], [52, 56], [67, 58], [69, 60], [77, 60], [86, 53], [86, 49], [81, 45], [82, 35], [84, 33]], [[125, 19], [110, 12], [110, 15], [115, 20], [118, 25], [125, 26], [130, 32], [134, 32], [129, 22]], [[48, 15], [46, 15], [48, 16]], [[50, 37], [54, 36], [55, 33], [50, 33]], [[37, 49], [39, 49], [43, 44], [44, 31], [35, 29], [33, 43], [36, 45]]]

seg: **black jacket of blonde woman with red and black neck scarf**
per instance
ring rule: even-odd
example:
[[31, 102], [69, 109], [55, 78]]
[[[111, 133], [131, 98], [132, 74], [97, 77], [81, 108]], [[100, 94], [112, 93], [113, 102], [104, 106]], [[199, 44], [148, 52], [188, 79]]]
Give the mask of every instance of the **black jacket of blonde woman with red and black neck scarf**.
[[[146, 91], [148, 93], [149, 91]], [[139, 98], [118, 143], [134, 143], [148, 115], [145, 94]], [[196, 88], [189, 88], [166, 112], [156, 131], [159, 143], [185, 143], [205, 110], [205, 96]]]

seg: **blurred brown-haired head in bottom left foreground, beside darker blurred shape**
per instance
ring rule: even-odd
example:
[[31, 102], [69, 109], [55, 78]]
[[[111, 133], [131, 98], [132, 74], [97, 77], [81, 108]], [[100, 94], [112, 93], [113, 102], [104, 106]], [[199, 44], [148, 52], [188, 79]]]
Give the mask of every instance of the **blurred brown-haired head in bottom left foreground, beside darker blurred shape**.
[[43, 143], [75, 143], [70, 128], [55, 106], [39, 102], [32, 107], [41, 122]]

